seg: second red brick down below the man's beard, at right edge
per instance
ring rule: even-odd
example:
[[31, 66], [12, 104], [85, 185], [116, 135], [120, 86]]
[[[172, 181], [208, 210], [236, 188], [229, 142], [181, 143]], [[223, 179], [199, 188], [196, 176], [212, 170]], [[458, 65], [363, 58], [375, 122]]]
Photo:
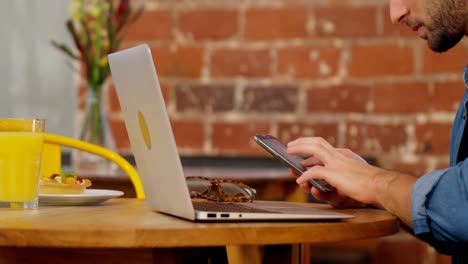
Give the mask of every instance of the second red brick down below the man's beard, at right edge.
[[456, 111], [465, 92], [465, 84], [456, 82], [436, 82], [432, 104], [436, 111]]

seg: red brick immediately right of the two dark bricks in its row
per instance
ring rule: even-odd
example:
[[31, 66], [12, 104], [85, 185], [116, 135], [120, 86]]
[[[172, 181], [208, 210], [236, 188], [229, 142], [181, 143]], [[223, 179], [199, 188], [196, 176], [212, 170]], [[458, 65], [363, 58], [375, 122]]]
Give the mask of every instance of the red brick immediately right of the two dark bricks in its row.
[[307, 112], [366, 112], [369, 87], [343, 84], [307, 90]]

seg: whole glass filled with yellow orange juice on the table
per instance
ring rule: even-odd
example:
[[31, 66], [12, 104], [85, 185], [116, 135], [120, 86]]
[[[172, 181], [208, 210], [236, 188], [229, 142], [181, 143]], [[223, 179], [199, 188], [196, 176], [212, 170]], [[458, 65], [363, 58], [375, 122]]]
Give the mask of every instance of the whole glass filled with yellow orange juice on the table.
[[36, 209], [44, 119], [0, 118], [0, 209]]

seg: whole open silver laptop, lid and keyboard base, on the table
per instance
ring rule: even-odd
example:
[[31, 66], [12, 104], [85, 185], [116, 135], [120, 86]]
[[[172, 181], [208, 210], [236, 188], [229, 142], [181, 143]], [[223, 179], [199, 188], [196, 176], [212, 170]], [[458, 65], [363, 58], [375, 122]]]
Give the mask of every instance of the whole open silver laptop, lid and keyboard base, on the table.
[[340, 220], [353, 217], [292, 202], [193, 202], [151, 50], [143, 44], [109, 54], [108, 58], [131, 149], [152, 210], [192, 221]]

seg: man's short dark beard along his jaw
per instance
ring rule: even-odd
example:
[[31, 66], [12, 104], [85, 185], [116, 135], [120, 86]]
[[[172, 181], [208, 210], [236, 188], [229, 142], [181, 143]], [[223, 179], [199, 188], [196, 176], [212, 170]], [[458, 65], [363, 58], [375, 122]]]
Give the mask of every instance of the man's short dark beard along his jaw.
[[430, 25], [427, 45], [436, 52], [444, 52], [455, 46], [465, 35], [464, 4], [459, 0], [439, 1], [428, 8]]

